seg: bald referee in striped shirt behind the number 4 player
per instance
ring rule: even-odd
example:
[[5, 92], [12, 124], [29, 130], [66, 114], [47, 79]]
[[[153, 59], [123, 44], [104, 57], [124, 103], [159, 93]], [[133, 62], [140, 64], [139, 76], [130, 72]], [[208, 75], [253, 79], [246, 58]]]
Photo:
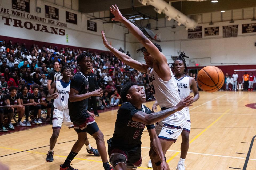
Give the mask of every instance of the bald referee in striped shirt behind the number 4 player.
[[[47, 84], [48, 91], [51, 89], [51, 84], [54, 81], [62, 79], [62, 75], [59, 69], [59, 62], [55, 61], [53, 67], [54, 67], [54, 70], [48, 75], [48, 84]], [[51, 102], [53, 103], [53, 99]], [[53, 110], [54, 110], [54, 107], [52, 105], [50, 124], [52, 124], [53, 122]], [[46, 119], [46, 121], [49, 121], [49, 119]]]

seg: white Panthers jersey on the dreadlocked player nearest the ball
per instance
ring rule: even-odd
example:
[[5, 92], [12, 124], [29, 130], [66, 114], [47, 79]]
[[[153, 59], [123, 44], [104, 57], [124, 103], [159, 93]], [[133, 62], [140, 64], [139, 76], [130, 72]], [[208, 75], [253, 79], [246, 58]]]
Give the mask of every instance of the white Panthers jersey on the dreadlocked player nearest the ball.
[[[190, 85], [189, 85], [189, 76], [184, 76], [180, 79], [175, 78], [178, 91], [179, 91], [179, 97], [181, 99], [186, 98], [190, 94]], [[186, 110], [189, 110], [189, 107], [185, 107]]]

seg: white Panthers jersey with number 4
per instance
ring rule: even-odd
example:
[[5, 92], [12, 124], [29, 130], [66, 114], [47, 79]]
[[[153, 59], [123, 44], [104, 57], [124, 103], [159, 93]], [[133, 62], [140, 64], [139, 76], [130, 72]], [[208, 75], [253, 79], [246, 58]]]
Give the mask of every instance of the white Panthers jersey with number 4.
[[54, 99], [53, 106], [56, 109], [63, 110], [68, 109], [68, 100], [69, 100], [69, 90], [70, 90], [70, 82], [64, 82], [62, 80], [57, 80], [55, 93], [59, 95], [57, 99]]

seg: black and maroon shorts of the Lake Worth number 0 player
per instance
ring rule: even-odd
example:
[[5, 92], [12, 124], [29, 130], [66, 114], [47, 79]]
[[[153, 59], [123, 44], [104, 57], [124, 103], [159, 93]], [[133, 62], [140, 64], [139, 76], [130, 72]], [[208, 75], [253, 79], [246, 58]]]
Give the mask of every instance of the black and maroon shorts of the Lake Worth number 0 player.
[[119, 163], [124, 163], [127, 168], [131, 169], [136, 169], [137, 167], [141, 166], [141, 146], [136, 146], [129, 149], [120, 148], [112, 143], [112, 138], [107, 141], [107, 144], [109, 162], [113, 168], [115, 168], [115, 166]]

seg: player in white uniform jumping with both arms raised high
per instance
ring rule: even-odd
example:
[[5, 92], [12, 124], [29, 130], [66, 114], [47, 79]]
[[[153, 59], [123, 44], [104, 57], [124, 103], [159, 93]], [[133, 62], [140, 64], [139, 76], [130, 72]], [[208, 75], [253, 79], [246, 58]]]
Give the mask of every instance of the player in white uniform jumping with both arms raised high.
[[[153, 44], [143, 34], [143, 32], [139, 30], [139, 28], [123, 17], [116, 5], [112, 5], [112, 7], [110, 7], [110, 11], [115, 16], [115, 18], [112, 18], [112, 21], [122, 22], [139, 40], [139, 42], [144, 45], [144, 47], [138, 49], [137, 52], [141, 51], [144, 54], [146, 64], [133, 60], [128, 55], [111, 47], [111, 45], [109, 45], [107, 42], [104, 31], [102, 31], [102, 39], [105, 47], [107, 47], [115, 56], [118, 57], [118, 59], [128, 64], [130, 67], [148, 74], [150, 90], [159, 102], [162, 110], [177, 105], [177, 103], [181, 101], [178, 87], [167, 59], [161, 52], [162, 50], [160, 45]], [[176, 142], [186, 124], [186, 121], [187, 113], [184, 108], [157, 123], [155, 130], [158, 134], [158, 138], [160, 139], [164, 154], [173, 144], [173, 142]], [[154, 170], [157, 168], [160, 169], [159, 165], [161, 164], [161, 160], [155, 153], [152, 146], [149, 155], [151, 160], [154, 161]]]

